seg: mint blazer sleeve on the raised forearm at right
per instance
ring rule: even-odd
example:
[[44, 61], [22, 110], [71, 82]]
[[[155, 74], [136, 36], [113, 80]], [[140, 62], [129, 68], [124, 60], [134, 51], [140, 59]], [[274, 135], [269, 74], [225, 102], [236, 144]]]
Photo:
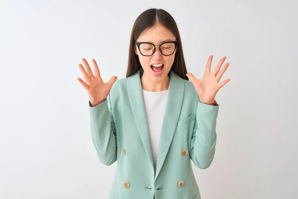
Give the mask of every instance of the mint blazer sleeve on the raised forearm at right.
[[219, 104], [214, 106], [198, 102], [196, 122], [190, 143], [190, 159], [200, 169], [207, 169], [214, 158], [218, 111]]

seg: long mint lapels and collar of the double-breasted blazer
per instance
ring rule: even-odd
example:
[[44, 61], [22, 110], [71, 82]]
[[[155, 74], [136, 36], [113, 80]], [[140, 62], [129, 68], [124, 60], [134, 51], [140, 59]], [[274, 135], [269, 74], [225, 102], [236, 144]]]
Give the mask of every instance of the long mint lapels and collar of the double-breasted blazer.
[[[150, 137], [149, 137], [149, 127], [147, 122], [147, 115], [145, 111], [145, 104], [143, 98], [143, 88], [141, 85], [141, 75], [143, 75], [144, 70], [140, 68], [134, 75], [128, 77], [127, 80], [127, 91], [130, 100], [130, 104], [132, 107], [132, 111], [136, 120], [136, 124], [144, 144], [147, 155], [150, 159], [152, 169], [153, 159], [150, 145]], [[176, 126], [178, 123], [182, 100], [184, 95], [184, 81], [181, 77], [179, 77], [174, 71], [170, 70], [169, 72], [170, 82], [168, 88], [168, 96], [166, 100], [166, 107], [164, 112], [164, 117], [161, 126], [160, 132], [160, 142], [158, 148], [157, 155], [157, 163], [156, 163], [156, 172], [155, 178], [156, 180], [161, 167], [164, 163], [165, 157], [169, 150], [170, 144], [172, 142]]]

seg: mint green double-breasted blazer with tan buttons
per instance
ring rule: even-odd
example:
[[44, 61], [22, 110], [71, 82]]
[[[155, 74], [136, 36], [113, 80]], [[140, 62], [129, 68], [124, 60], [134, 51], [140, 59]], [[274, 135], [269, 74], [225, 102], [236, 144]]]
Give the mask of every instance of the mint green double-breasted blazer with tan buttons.
[[102, 103], [91, 107], [90, 130], [102, 164], [117, 161], [109, 199], [201, 199], [191, 161], [208, 168], [216, 147], [219, 105], [199, 101], [192, 82], [170, 70], [156, 171], [140, 68], [116, 80]]

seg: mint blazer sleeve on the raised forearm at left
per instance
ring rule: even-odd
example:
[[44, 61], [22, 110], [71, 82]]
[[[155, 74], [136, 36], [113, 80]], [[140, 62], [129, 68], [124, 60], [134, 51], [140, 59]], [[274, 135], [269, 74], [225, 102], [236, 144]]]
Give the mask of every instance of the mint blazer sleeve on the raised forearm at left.
[[117, 134], [110, 94], [96, 106], [91, 107], [90, 100], [88, 103], [92, 142], [100, 162], [109, 166], [117, 160]]

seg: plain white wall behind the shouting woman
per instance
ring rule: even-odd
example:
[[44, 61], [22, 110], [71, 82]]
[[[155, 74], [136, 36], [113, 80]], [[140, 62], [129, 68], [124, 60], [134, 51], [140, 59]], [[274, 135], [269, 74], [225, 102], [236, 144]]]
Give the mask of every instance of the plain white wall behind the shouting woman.
[[144, 10], [176, 20], [187, 70], [230, 63], [217, 94], [212, 165], [193, 164], [202, 199], [296, 199], [295, 0], [0, 0], [0, 198], [107, 199], [117, 162], [99, 162], [78, 64], [125, 78]]

